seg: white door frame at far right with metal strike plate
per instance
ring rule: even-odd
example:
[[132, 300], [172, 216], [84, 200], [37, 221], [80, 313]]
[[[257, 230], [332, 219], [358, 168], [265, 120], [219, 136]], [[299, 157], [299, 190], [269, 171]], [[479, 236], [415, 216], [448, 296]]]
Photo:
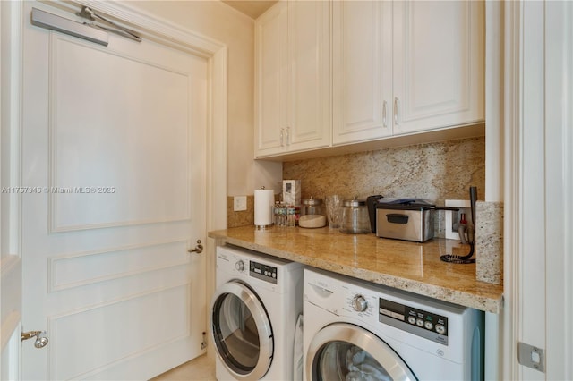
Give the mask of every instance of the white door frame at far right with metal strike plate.
[[[500, 378], [569, 379], [573, 331], [565, 328], [573, 318], [573, 296], [567, 292], [573, 284], [573, 112], [565, 105], [570, 105], [573, 89], [573, 6], [507, 1], [504, 21], [505, 306]], [[532, 162], [535, 167], [526, 167]], [[541, 207], [532, 207], [532, 200]], [[534, 219], [539, 223], [532, 228]], [[544, 351], [543, 372], [518, 362], [520, 342]]]

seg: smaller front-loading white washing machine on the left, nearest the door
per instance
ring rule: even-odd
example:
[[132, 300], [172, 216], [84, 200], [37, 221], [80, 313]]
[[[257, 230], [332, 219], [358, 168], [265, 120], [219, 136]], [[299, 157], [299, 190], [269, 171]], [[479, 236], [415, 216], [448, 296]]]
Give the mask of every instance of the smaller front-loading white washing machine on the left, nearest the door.
[[210, 331], [223, 380], [292, 380], [295, 326], [303, 311], [303, 266], [217, 248]]

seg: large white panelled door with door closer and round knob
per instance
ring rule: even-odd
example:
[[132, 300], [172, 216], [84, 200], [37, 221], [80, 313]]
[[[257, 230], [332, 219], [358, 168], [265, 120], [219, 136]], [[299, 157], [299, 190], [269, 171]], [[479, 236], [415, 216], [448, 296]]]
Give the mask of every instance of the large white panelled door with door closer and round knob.
[[22, 325], [49, 343], [23, 343], [22, 378], [156, 376], [203, 351], [207, 62], [23, 37]]

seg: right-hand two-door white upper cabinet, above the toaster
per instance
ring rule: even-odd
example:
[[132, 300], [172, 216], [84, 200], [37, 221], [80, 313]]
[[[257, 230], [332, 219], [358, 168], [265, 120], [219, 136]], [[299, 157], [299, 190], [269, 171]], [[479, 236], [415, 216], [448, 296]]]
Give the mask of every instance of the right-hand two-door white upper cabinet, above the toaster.
[[333, 5], [334, 145], [484, 120], [484, 4]]

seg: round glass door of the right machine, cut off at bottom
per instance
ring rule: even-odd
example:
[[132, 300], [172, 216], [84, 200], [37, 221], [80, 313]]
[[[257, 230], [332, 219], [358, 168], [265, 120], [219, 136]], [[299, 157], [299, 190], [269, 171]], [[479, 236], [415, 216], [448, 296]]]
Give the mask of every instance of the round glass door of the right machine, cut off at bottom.
[[312, 381], [417, 379], [387, 343], [346, 323], [325, 326], [312, 338], [306, 353], [306, 377]]

